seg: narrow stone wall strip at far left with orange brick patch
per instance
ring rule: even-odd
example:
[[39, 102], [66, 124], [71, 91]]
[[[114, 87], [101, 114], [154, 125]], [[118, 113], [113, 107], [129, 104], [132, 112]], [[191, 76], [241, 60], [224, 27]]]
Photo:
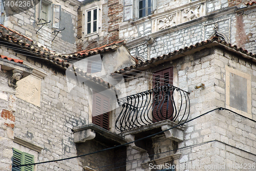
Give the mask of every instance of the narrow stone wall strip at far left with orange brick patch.
[[15, 123], [15, 90], [8, 86], [9, 73], [0, 71], [0, 170], [12, 168], [13, 128]]

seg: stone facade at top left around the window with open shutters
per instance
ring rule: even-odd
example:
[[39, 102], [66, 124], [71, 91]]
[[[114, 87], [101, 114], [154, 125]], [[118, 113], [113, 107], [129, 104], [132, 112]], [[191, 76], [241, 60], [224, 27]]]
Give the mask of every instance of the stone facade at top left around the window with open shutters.
[[[44, 46], [62, 54], [75, 52], [77, 9], [80, 2], [58, 0], [38, 2], [24, 12], [11, 9], [5, 11], [6, 15], [1, 24], [33, 39], [39, 47]], [[61, 32], [56, 32], [58, 30]]]

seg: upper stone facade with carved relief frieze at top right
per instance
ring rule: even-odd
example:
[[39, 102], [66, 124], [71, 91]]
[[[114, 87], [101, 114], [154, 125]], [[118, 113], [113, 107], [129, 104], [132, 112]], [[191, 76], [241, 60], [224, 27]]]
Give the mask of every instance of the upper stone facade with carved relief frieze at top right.
[[[124, 1], [124, 3], [130, 1]], [[136, 18], [124, 13], [125, 22], [120, 24], [120, 39], [127, 40], [132, 55], [144, 59], [161, 56], [185, 46], [206, 40], [218, 31], [232, 45], [255, 53], [254, 3], [228, 1], [157, 1], [151, 15]], [[131, 4], [134, 8], [136, 1]], [[216, 28], [217, 27], [217, 28]], [[148, 44], [150, 36], [154, 43]]]

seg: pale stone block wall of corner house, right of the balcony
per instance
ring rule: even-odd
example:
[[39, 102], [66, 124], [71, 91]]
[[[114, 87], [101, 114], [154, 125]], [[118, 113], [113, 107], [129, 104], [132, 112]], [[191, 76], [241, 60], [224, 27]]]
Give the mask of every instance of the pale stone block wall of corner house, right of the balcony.
[[[199, 52], [202, 53], [202, 52]], [[195, 54], [198, 56], [199, 53]], [[208, 53], [208, 52], [205, 52]], [[190, 93], [190, 105], [191, 105], [191, 118], [195, 118], [200, 114], [208, 112], [211, 109], [220, 106], [226, 106], [225, 99], [225, 81], [226, 73], [225, 66], [232, 67], [245, 73], [249, 73], [252, 76], [251, 91], [252, 91], [252, 104], [254, 103], [254, 64], [250, 61], [239, 58], [235, 55], [223, 52], [223, 50], [216, 49], [215, 54], [207, 55], [206, 57], [198, 56], [198, 59], [191, 61], [191, 66], [188, 68], [179, 70], [179, 87], [188, 87]], [[182, 68], [182, 66], [181, 66]], [[205, 90], [195, 90], [193, 87], [197, 84], [205, 83]], [[252, 106], [252, 109], [254, 107]], [[253, 112], [252, 112], [253, 113]], [[252, 114], [252, 118], [255, 115]], [[214, 151], [214, 155], [207, 152], [207, 148], [204, 151], [195, 151], [192, 149], [187, 150], [183, 153], [180, 158], [180, 163], [200, 163], [200, 165], [213, 165], [213, 164], [226, 164], [228, 167], [231, 162], [234, 164], [251, 162], [249, 157], [243, 160], [241, 159], [241, 153], [249, 155], [249, 153], [255, 154], [255, 145], [252, 141], [255, 140], [253, 133], [255, 122], [249, 119], [240, 117], [233, 113], [226, 111], [218, 111], [202, 118], [187, 123], [185, 130], [185, 140], [179, 144], [179, 147], [193, 145], [201, 142], [218, 140], [221, 141], [220, 146], [225, 146], [224, 143], [228, 144], [226, 148], [238, 148], [236, 153], [233, 153], [232, 157], [225, 156], [227, 154], [223, 151], [215, 151], [215, 149], [208, 149]], [[217, 142], [216, 142], [217, 143]], [[222, 148], [223, 149], [223, 148]], [[205, 159], [205, 156], [207, 159]], [[234, 157], [236, 156], [236, 157]], [[235, 159], [234, 159], [234, 158]], [[226, 163], [223, 161], [226, 160]], [[253, 170], [253, 169], [251, 169]]]

